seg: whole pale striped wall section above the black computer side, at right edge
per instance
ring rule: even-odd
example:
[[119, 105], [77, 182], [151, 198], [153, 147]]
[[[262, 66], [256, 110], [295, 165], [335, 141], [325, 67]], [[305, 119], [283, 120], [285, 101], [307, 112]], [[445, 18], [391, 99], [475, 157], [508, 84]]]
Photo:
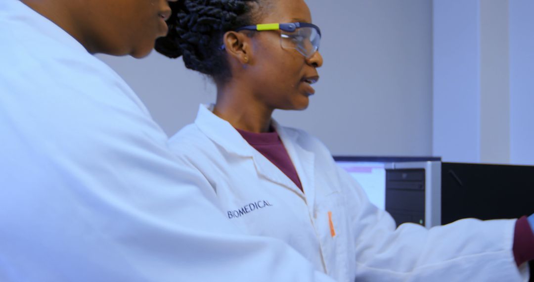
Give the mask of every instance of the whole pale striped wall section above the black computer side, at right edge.
[[534, 165], [533, 13], [531, 0], [434, 0], [434, 155]]

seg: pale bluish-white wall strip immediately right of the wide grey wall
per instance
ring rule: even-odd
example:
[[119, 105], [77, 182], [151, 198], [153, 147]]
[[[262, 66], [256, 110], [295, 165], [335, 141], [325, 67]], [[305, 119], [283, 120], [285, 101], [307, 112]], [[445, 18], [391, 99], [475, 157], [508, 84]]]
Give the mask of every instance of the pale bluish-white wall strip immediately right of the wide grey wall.
[[434, 0], [433, 154], [480, 160], [479, 0]]

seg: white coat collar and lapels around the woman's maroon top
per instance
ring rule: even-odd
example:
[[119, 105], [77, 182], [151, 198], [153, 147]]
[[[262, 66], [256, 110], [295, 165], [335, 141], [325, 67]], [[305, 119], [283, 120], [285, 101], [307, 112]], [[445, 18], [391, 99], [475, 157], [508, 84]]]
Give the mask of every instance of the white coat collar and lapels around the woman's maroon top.
[[[304, 195], [302, 191], [300, 191], [299, 187], [297, 187], [295, 183], [293, 183], [293, 181], [289, 179], [289, 177], [287, 177], [278, 167], [269, 161], [269, 159], [265, 158], [264, 155], [256, 151], [254, 147], [250, 146], [247, 140], [245, 140], [229, 122], [216, 116], [212, 112], [213, 107], [213, 105], [200, 105], [199, 107], [195, 124], [199, 127], [202, 133], [210, 138], [213, 142], [224, 148], [227, 153], [252, 158], [258, 175], [269, 179], [271, 182], [285, 186], [304, 198]], [[298, 158], [295, 154], [296, 151], [291, 149], [293, 151], [292, 154], [287, 148], [288, 145], [293, 147], [290, 145], [292, 143], [292, 140], [290, 139], [294, 139], [294, 136], [286, 134], [286, 132], [284, 132], [284, 128], [281, 127], [276, 121], [273, 120], [272, 124], [280, 135], [282, 143], [284, 143], [286, 146], [286, 150], [288, 150], [291, 160], [295, 163], [297, 174], [302, 175], [303, 170], [299, 170], [299, 168], [297, 168], [298, 166], [296, 165], [296, 163], [298, 163]]]

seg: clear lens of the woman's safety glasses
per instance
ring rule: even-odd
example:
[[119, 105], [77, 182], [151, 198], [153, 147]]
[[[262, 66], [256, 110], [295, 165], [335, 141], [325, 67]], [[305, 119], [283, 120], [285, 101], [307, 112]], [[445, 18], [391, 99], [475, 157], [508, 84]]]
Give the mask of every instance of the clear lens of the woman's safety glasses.
[[281, 30], [281, 45], [284, 49], [295, 49], [306, 58], [319, 50], [321, 35], [313, 27], [300, 27], [293, 32]]

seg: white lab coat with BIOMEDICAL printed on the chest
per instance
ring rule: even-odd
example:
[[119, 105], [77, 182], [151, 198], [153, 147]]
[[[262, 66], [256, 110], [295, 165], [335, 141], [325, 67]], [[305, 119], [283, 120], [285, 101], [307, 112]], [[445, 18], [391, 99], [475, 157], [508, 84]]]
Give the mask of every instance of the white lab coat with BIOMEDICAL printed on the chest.
[[470, 219], [430, 230], [403, 224], [396, 230], [319, 140], [273, 124], [305, 193], [206, 106], [169, 141], [206, 177], [228, 221], [288, 242], [339, 281], [528, 279], [527, 267], [520, 271], [512, 253], [515, 220]]

